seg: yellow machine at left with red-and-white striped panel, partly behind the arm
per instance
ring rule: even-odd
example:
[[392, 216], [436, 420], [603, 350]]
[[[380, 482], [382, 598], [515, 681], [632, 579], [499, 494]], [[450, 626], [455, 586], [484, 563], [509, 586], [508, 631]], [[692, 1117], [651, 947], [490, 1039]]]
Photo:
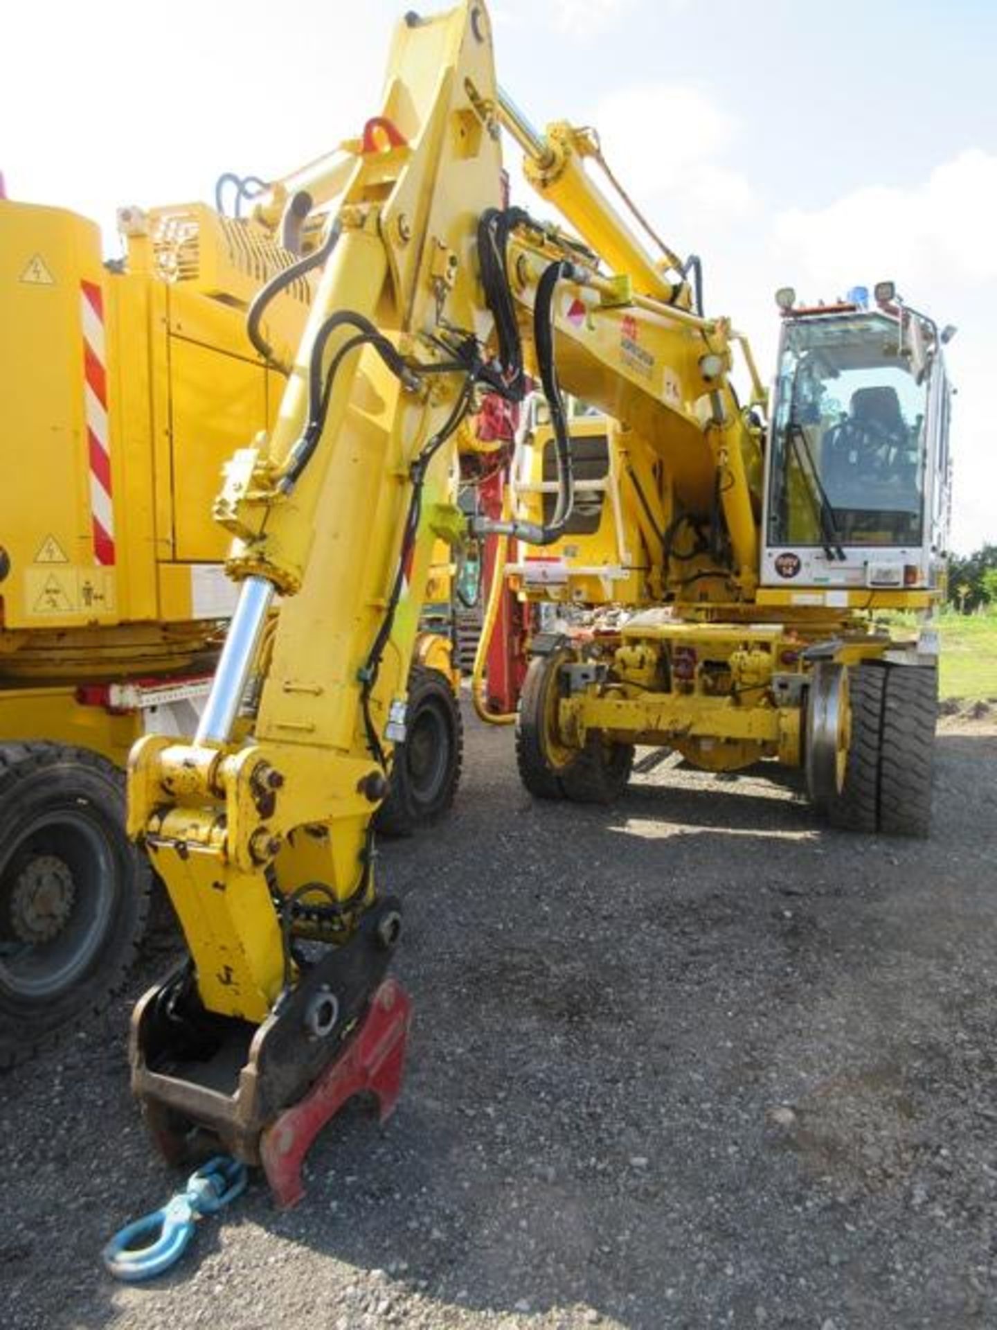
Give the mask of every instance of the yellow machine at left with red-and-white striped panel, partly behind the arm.
[[[93, 222], [0, 189], [0, 1068], [98, 1009], [142, 938], [124, 766], [142, 733], [197, 724], [235, 602], [211, 499], [233, 448], [273, 427], [311, 303], [304, 274], [247, 326], [308, 243], [292, 182], [257, 184], [239, 217], [249, 192], [226, 176], [215, 209], [122, 209], [126, 254], [105, 263]], [[435, 559], [379, 818], [393, 834], [445, 811], [460, 773]]]

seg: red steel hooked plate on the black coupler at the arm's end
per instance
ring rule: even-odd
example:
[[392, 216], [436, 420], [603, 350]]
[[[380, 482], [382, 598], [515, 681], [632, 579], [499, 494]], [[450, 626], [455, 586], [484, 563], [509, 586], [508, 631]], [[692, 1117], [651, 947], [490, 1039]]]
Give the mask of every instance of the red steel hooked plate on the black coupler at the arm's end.
[[304, 1196], [304, 1156], [347, 1100], [370, 1092], [378, 1099], [382, 1123], [392, 1113], [401, 1092], [411, 1019], [411, 998], [396, 980], [386, 979], [343, 1056], [326, 1068], [304, 1099], [266, 1128], [259, 1158], [280, 1209], [296, 1205]]

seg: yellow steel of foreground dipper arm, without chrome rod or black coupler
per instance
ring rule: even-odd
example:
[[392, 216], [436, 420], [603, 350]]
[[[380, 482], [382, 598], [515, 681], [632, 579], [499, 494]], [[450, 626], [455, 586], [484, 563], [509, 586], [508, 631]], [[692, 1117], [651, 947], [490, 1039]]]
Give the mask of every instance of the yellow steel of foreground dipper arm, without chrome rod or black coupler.
[[[363, 722], [362, 680], [384, 620], [412, 484], [409, 466], [451, 415], [460, 376], [401, 387], [370, 347], [336, 375], [314, 460], [292, 493], [279, 489], [306, 420], [306, 376], [323, 321], [348, 309], [419, 359], [444, 321], [485, 339], [476, 222], [500, 202], [491, 33], [473, 5], [403, 23], [392, 45], [383, 114], [405, 145], [358, 153], [343, 190], [340, 239], [326, 265], [273, 430], [227, 469], [215, 513], [237, 537], [229, 571], [263, 576], [283, 595], [259, 706], [245, 743], [203, 749], [146, 738], [129, 766], [129, 826], [144, 837], [190, 944], [205, 1004], [261, 1020], [284, 982], [271, 888], [320, 880], [344, 919], [371, 899], [368, 793], [379, 767]], [[355, 332], [332, 334], [327, 359]], [[403, 702], [419, 612], [439, 533], [453, 533], [455, 444], [428, 466], [419, 536], [370, 698], [384, 735]], [[387, 738], [386, 750], [391, 749]], [[210, 750], [209, 750], [210, 751]], [[194, 789], [164, 803], [190, 763]], [[279, 774], [273, 807], [259, 770]]]

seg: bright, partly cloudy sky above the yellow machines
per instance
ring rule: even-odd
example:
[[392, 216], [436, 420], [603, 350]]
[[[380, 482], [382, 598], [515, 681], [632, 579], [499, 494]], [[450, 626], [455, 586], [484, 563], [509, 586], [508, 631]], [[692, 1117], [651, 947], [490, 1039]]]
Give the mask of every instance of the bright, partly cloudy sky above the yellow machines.
[[[4, 8], [11, 198], [101, 222], [283, 176], [378, 110], [404, 0], [49, 0]], [[425, 7], [427, 11], [431, 8]], [[772, 293], [893, 279], [948, 348], [952, 545], [997, 541], [997, 4], [992, 0], [495, 0], [500, 82], [530, 121], [592, 124], [706, 306], [771, 376]], [[518, 174], [509, 145], [506, 165]], [[525, 197], [525, 186], [517, 190]]]

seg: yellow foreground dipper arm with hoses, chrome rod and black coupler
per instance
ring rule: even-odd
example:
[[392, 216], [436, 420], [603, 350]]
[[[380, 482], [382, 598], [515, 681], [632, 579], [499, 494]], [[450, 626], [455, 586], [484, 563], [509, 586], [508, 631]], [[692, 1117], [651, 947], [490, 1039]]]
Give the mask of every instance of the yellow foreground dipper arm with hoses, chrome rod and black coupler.
[[[496, 374], [476, 263], [500, 203], [495, 100], [483, 5], [399, 25], [277, 427], [234, 456], [217, 501], [242, 592], [198, 734], [130, 758], [130, 833], [190, 950], [132, 1033], [134, 1089], [174, 1156], [207, 1128], [258, 1162], [282, 1111], [383, 1044], [370, 1021], [388, 998], [388, 1041], [404, 1037], [407, 1004], [382, 983], [400, 914], [375, 900], [371, 819], [404, 738], [432, 547], [461, 539], [457, 426]], [[355, 1088], [364, 1076], [376, 1089], [368, 1064]]]

